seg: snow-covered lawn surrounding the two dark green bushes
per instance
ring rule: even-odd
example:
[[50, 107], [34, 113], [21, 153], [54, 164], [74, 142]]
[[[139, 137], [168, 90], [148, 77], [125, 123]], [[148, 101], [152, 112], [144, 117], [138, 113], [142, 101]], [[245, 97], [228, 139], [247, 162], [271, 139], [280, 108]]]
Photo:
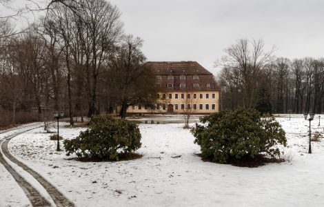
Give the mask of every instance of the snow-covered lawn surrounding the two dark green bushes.
[[[201, 161], [195, 155], [199, 146], [183, 124], [141, 124], [143, 157], [133, 161], [69, 160], [41, 128], [12, 139], [9, 150], [77, 206], [324, 206], [324, 139], [312, 142], [313, 153], [307, 154], [309, 122], [303, 115], [276, 119], [287, 132], [290, 161], [259, 168]], [[323, 135], [324, 120], [317, 125], [318, 116], [312, 132]], [[72, 139], [80, 130], [60, 128], [60, 135]], [[17, 195], [22, 190], [2, 185], [10, 179], [5, 171], [0, 166], [0, 206], [14, 206], [9, 195], [26, 204]]]

